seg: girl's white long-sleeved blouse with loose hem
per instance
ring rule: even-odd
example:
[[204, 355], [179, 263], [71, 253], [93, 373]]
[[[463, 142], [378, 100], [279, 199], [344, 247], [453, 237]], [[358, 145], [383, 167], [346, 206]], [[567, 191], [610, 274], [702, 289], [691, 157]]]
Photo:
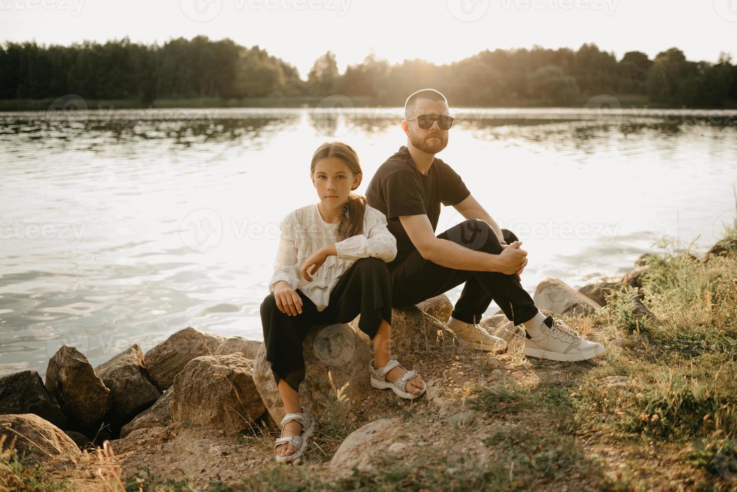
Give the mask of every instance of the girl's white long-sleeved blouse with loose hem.
[[[318, 311], [327, 307], [332, 288], [354, 261], [374, 256], [388, 263], [397, 256], [397, 239], [386, 228], [386, 217], [369, 205], [363, 215], [363, 234], [343, 241], [339, 240], [338, 224], [325, 222], [317, 203], [290, 212], [279, 228], [282, 237], [269, 290], [273, 292], [276, 282], [286, 281], [293, 289], [300, 289], [307, 295]], [[304, 261], [321, 247], [331, 244], [335, 244], [338, 256], [328, 256], [311, 275], [312, 281], [305, 280], [300, 273]]]

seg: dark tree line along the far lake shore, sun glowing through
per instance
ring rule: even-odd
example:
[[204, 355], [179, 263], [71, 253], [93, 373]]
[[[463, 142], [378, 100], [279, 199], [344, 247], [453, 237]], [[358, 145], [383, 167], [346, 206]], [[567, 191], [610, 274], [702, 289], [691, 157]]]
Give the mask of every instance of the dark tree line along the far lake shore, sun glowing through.
[[737, 66], [730, 55], [717, 63], [689, 61], [680, 49], [658, 53], [613, 52], [584, 43], [569, 48], [484, 50], [446, 65], [425, 60], [390, 64], [373, 54], [338, 71], [335, 55], [315, 60], [307, 80], [294, 66], [265, 49], [206, 36], [163, 45], [106, 43], [44, 46], [0, 44], [0, 99], [48, 99], [77, 94], [85, 99], [254, 97], [289, 98], [346, 94], [384, 105], [402, 105], [408, 94], [433, 87], [453, 105], [576, 104], [597, 94], [631, 94], [680, 107], [733, 108]]

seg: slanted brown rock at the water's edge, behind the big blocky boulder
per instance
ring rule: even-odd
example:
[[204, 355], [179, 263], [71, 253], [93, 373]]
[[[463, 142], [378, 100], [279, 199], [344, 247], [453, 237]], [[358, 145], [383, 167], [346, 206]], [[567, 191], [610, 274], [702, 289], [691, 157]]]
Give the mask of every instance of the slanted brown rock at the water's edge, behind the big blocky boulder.
[[144, 358], [151, 380], [159, 390], [166, 390], [187, 362], [195, 357], [214, 354], [223, 340], [224, 337], [205, 333], [192, 326], [177, 331], [146, 352]]

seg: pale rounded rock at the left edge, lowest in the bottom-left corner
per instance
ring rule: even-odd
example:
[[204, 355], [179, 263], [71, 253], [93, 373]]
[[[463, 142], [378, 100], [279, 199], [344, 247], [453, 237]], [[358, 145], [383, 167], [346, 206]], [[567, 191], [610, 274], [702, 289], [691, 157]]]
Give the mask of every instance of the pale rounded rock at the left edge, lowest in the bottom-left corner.
[[27, 454], [32, 461], [81, 454], [71, 437], [32, 413], [0, 415], [0, 436], [7, 436], [4, 443], [6, 448], [15, 437], [18, 454]]

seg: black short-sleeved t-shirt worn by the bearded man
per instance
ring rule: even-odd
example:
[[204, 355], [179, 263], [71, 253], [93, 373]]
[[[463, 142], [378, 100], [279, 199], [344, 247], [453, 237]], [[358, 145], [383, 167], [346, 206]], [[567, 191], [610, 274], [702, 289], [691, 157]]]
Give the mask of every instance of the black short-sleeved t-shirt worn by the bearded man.
[[368, 183], [366, 200], [387, 218], [388, 229], [397, 238], [397, 258], [387, 266], [394, 270], [416, 250], [399, 222], [400, 215], [425, 214], [438, 226], [440, 204], [456, 205], [470, 194], [461, 177], [439, 158], [433, 159], [428, 175], [419, 172], [407, 147], [402, 145], [377, 169]]

